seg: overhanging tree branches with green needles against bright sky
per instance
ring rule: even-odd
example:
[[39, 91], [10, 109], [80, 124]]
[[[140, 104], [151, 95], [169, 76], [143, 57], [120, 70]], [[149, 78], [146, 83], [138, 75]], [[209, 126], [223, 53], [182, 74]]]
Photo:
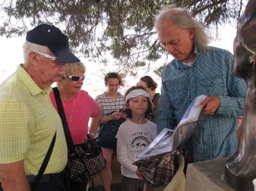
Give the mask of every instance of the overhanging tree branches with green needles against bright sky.
[[21, 36], [32, 26], [53, 24], [69, 36], [74, 52], [105, 63], [111, 53], [120, 70], [136, 74], [134, 68], [150, 65], [164, 53], [153, 29], [161, 8], [182, 6], [206, 27], [218, 27], [240, 15], [242, 1], [8, 0], [0, 6], [1, 36]]

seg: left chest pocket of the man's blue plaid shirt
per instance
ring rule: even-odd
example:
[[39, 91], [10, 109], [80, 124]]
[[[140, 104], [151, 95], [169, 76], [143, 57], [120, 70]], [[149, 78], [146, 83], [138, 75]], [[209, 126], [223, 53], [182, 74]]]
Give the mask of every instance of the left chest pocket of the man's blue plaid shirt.
[[167, 89], [169, 91], [170, 101], [174, 109], [179, 110], [184, 104], [187, 96], [187, 86], [185, 84], [167, 84]]

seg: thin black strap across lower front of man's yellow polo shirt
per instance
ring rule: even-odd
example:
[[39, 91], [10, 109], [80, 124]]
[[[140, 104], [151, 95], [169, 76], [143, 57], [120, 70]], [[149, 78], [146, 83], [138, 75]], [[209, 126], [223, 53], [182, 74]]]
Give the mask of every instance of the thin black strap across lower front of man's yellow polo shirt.
[[48, 165], [48, 162], [50, 160], [53, 147], [55, 145], [55, 140], [56, 140], [56, 132], [55, 132], [55, 135], [52, 138], [51, 145], [50, 145], [50, 147], [49, 147], [49, 149], [48, 149], [48, 151], [47, 151], [47, 153], [44, 157], [44, 161], [43, 161], [43, 163], [42, 163], [42, 165], [41, 165], [41, 167], [40, 167], [40, 169], [39, 169], [39, 171], [36, 175], [36, 178], [35, 178], [35, 180], [33, 181], [32, 185], [31, 185], [31, 190], [35, 190], [37, 188], [38, 183], [39, 183], [39, 181], [41, 180], [41, 178], [44, 174], [44, 171], [45, 171], [45, 169]]

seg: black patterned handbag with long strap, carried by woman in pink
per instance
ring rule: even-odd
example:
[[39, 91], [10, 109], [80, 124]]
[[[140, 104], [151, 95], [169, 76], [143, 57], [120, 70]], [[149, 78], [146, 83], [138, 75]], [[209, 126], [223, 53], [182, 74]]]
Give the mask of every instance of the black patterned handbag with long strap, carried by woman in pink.
[[89, 135], [87, 135], [86, 143], [79, 145], [73, 144], [59, 91], [57, 88], [52, 89], [69, 148], [69, 160], [67, 165], [69, 177], [75, 182], [80, 182], [85, 179], [92, 180], [97, 173], [105, 168], [106, 160], [103, 157], [102, 150], [97, 139], [91, 139]]

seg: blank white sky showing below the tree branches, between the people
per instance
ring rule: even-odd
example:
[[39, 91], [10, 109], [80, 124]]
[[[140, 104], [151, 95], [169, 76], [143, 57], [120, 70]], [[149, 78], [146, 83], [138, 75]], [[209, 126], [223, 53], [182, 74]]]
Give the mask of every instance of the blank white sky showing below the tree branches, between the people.
[[[225, 25], [219, 27], [219, 36], [217, 40], [214, 40], [210, 45], [216, 46], [220, 48], [227, 49], [231, 53], [233, 53], [233, 40], [236, 34], [235, 25]], [[22, 51], [22, 45], [25, 41], [25, 35], [22, 37], [14, 37], [10, 39], [6, 39], [5, 37], [0, 37], [0, 55], [2, 59], [2, 63], [0, 65], [0, 83], [2, 83], [8, 76], [10, 76], [12, 73], [15, 72], [17, 66], [19, 63], [23, 63], [23, 51]], [[94, 78], [93, 75], [100, 73], [100, 68], [103, 67], [103, 65], [100, 65], [99, 63], [93, 63], [85, 58], [83, 56], [79, 56], [79, 59], [85, 64], [86, 66], [86, 74], [90, 76], [92, 79]], [[173, 58], [172, 56], [168, 57], [168, 61], [171, 61]], [[112, 71], [111, 71], [112, 72]], [[141, 68], [138, 71], [139, 76], [146, 75], [145, 74], [145, 68]], [[154, 75], [151, 71], [147, 75]], [[99, 76], [99, 75], [98, 75]], [[159, 82], [160, 77], [154, 76], [157, 78], [157, 81]], [[102, 76], [103, 81], [103, 76]], [[136, 79], [133, 81], [131, 79], [126, 81], [132, 81], [132, 83], [136, 83]], [[102, 82], [104, 86], [104, 82]], [[160, 86], [157, 89], [160, 90]]]

